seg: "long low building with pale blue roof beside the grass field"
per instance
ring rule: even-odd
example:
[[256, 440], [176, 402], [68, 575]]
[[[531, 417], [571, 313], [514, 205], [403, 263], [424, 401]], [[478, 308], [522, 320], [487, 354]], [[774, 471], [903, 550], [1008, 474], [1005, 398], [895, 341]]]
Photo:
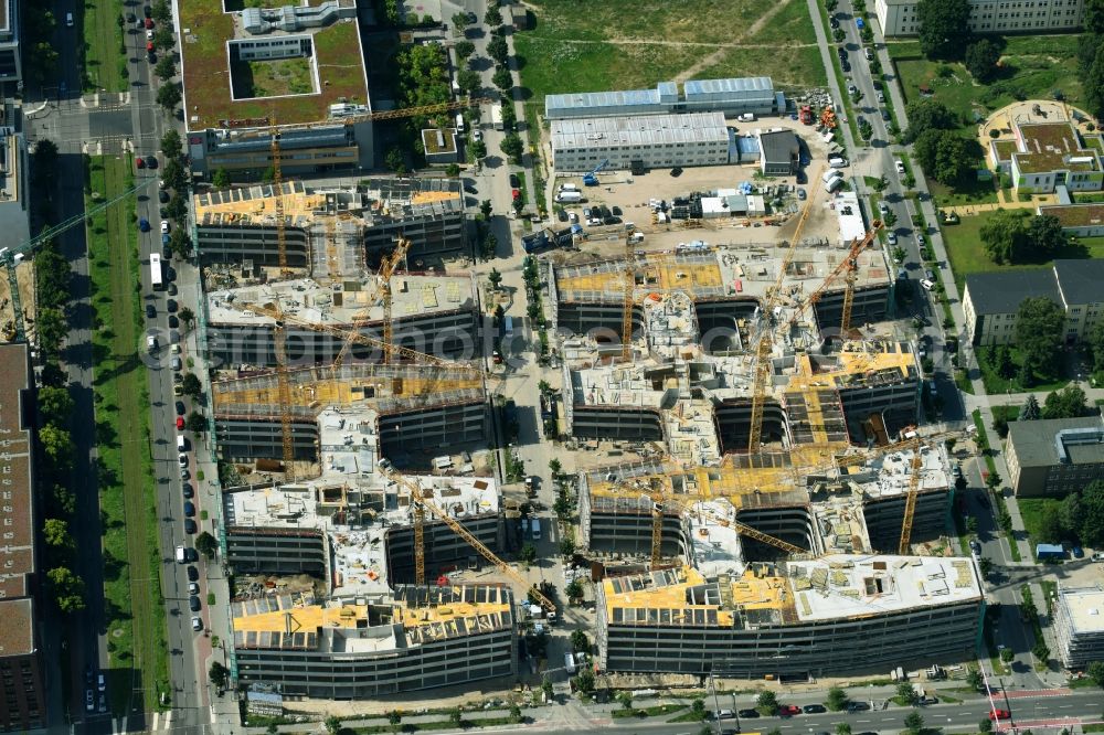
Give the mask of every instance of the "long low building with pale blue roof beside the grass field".
[[655, 89], [577, 92], [544, 97], [544, 118], [622, 117], [670, 113], [725, 113], [771, 115], [785, 111], [786, 98], [768, 76], [729, 79], [690, 79], [679, 93], [675, 82]]

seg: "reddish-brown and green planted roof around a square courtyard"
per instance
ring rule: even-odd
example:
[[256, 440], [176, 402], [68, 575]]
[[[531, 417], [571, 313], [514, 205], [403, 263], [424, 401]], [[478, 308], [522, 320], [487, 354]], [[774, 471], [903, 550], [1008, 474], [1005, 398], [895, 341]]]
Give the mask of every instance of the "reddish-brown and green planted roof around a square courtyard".
[[[330, 0], [347, 9], [349, 0]], [[308, 4], [319, 7], [320, 0]], [[274, 30], [252, 35], [242, 26], [243, 13], [223, 11], [222, 0], [187, 0], [173, 3], [179, 13], [184, 124], [189, 130], [221, 126], [223, 120], [274, 118], [280, 125], [326, 120], [337, 103], [369, 104], [368, 76], [360, 33], [353, 17], [333, 20], [321, 28], [299, 28], [289, 34]], [[343, 13], [342, 13], [343, 14]], [[259, 41], [285, 35], [310, 34], [312, 73], [317, 92], [283, 97], [233, 98], [229, 43]]]

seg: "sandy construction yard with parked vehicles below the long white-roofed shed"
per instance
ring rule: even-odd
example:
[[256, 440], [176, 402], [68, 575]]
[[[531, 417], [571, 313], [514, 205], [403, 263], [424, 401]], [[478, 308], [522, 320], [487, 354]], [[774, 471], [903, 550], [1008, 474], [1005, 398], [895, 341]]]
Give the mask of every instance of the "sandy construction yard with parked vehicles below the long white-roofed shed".
[[[625, 223], [633, 223], [637, 232], [644, 234], [644, 242], [635, 245], [635, 249], [669, 251], [679, 243], [694, 239], [705, 241], [711, 246], [752, 244], [773, 244], [779, 239], [789, 239], [797, 230], [802, 207], [811, 201], [808, 221], [802, 230], [800, 237], [827, 238], [835, 244], [839, 237], [836, 215], [829, 205], [828, 198], [820, 187], [820, 173], [827, 167], [828, 149], [824, 139], [813, 126], [803, 125], [789, 118], [765, 118], [752, 125], [739, 127], [741, 135], [755, 129], [789, 128], [794, 130], [808, 148], [811, 162], [804, 169], [808, 183], [798, 184], [796, 175], [769, 177], [756, 180], [757, 166], [729, 164], [714, 167], [686, 168], [678, 175], [672, 175], [670, 169], [655, 169], [640, 175], [631, 175], [627, 171], [603, 171], [598, 173], [597, 187], [585, 187], [582, 177], [558, 177], [550, 182], [548, 196], [555, 195], [555, 190], [562, 184], [574, 184], [578, 188], [585, 202], [563, 204], [566, 213], [574, 213], [583, 223], [587, 242], [580, 245], [584, 253], [596, 255], [616, 255], [623, 252]], [[847, 172], [845, 171], [845, 174]], [[699, 220], [697, 226], [690, 227], [686, 221], [655, 223], [649, 200], [670, 202], [676, 196], [687, 196], [691, 192], [710, 192], [718, 189], [736, 189], [749, 182], [756, 188], [755, 193], [763, 193], [771, 203], [766, 215]], [[803, 201], [797, 195], [797, 189], [804, 189], [808, 200]], [[586, 226], [584, 209], [605, 205], [620, 211], [620, 224]], [[616, 215], [617, 212], [614, 211]], [[769, 223], [775, 224], [769, 224]], [[559, 220], [554, 227], [565, 226]]]

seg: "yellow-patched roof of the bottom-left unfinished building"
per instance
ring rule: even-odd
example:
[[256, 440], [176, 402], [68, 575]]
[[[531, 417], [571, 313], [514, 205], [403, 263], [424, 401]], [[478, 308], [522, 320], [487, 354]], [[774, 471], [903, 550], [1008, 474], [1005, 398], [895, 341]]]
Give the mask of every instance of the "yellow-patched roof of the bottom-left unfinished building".
[[231, 612], [236, 648], [370, 653], [509, 629], [512, 606], [506, 587], [401, 587], [374, 600], [266, 596], [232, 603]]

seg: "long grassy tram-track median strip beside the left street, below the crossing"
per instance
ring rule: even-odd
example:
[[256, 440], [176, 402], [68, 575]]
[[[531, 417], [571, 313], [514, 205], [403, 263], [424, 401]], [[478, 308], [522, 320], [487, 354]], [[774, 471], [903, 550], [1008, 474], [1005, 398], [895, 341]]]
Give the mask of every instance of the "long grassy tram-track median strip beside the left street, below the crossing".
[[[131, 158], [86, 159], [86, 193], [99, 201], [134, 183]], [[86, 205], [91, 205], [89, 195]], [[157, 481], [150, 455], [149, 393], [142, 341], [135, 198], [88, 222], [95, 312], [93, 391], [97, 486], [104, 526], [104, 595], [108, 631], [108, 691], [124, 714], [158, 707], [169, 691], [164, 601], [159, 577]], [[142, 701], [132, 701], [138, 692]]]

